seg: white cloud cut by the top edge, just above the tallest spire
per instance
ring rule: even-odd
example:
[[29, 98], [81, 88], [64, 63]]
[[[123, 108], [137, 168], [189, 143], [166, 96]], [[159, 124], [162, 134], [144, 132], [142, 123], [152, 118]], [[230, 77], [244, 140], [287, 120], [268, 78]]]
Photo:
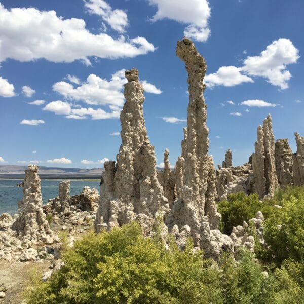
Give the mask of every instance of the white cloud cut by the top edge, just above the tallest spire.
[[157, 6], [153, 21], [172, 19], [187, 24], [184, 35], [197, 41], [206, 41], [210, 35], [208, 19], [211, 10], [207, 0], [149, 0]]

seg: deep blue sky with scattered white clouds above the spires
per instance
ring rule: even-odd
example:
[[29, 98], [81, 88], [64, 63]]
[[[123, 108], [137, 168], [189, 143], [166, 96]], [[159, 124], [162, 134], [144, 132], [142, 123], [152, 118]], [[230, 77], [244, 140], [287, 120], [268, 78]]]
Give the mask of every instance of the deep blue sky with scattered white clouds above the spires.
[[124, 70], [137, 68], [157, 163], [175, 164], [188, 85], [176, 43], [207, 62], [215, 165], [248, 161], [271, 114], [275, 138], [304, 136], [304, 1], [0, 0], [0, 165], [93, 168], [121, 145]]

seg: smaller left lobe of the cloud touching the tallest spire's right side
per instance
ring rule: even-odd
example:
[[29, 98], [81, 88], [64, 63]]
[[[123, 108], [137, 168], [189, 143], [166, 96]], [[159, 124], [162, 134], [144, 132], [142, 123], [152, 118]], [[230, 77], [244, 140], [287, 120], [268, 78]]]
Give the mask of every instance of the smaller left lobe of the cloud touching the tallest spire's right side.
[[214, 86], [233, 87], [241, 83], [250, 82], [253, 80], [241, 73], [242, 69], [236, 66], [222, 66], [216, 73], [208, 74], [204, 77], [204, 82], [210, 88]]

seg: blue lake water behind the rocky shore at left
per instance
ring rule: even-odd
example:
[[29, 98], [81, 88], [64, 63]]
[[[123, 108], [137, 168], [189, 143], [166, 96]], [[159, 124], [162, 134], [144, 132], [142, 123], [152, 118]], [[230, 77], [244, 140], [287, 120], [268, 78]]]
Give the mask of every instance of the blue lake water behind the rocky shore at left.
[[[23, 179], [0, 179], [0, 214], [18, 212], [18, 201], [23, 197], [23, 187], [17, 187]], [[41, 192], [44, 204], [48, 199], [58, 195], [58, 184], [63, 180], [42, 179]], [[71, 180], [70, 195], [80, 194], [85, 186], [96, 188], [99, 191], [98, 180]]]

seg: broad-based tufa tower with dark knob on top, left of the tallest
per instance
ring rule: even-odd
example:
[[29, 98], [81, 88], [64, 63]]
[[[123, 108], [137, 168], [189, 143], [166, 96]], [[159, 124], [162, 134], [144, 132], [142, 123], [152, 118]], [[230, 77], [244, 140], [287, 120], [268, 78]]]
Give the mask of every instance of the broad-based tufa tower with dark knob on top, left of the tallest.
[[125, 72], [124, 96], [121, 111], [122, 145], [117, 163], [106, 162], [101, 185], [95, 230], [111, 229], [136, 219], [137, 216], [155, 218], [169, 211], [168, 200], [158, 181], [154, 146], [150, 144], [143, 118], [143, 87], [138, 71]]

